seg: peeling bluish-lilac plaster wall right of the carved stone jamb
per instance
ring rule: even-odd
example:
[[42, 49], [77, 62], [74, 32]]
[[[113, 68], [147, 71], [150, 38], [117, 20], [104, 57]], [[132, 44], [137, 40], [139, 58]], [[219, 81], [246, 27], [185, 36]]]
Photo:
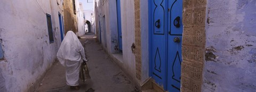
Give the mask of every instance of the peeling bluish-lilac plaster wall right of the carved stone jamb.
[[256, 90], [256, 1], [207, 0], [202, 91]]

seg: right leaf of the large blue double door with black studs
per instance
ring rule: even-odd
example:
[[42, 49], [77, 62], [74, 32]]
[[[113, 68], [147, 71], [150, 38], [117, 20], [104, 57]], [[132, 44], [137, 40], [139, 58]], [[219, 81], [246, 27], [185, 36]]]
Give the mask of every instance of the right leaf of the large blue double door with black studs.
[[180, 91], [181, 42], [182, 42], [182, 0], [168, 2], [167, 41], [167, 90]]

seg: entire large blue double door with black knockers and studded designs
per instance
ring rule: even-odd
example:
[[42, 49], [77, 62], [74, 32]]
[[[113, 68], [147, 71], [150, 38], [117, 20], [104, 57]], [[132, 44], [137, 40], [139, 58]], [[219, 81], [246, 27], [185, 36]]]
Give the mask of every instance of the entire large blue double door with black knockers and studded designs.
[[180, 91], [182, 0], [149, 0], [150, 76], [167, 91]]

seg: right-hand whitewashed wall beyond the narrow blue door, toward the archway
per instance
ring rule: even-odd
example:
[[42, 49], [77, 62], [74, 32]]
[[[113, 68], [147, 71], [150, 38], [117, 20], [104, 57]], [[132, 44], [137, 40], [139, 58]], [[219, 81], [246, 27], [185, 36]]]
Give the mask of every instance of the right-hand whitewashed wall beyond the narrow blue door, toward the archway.
[[[101, 29], [102, 45], [106, 49], [108, 54], [116, 53], [116, 52], [118, 52], [115, 50], [115, 46], [118, 47], [116, 1], [115, 0], [110, 0], [110, 1], [105, 1], [105, 2], [98, 1], [97, 6], [98, 7], [95, 8], [95, 10], [97, 10], [97, 13], [95, 13], [95, 14], [98, 14], [98, 15], [96, 15], [96, 17], [97, 17], [97, 20], [99, 20], [101, 23], [100, 29]], [[90, 20], [91, 20], [92, 19], [91, 13], [93, 13], [93, 11], [90, 10], [89, 13], [90, 13]], [[100, 19], [98, 19], [99, 15], [100, 15]], [[103, 18], [102, 17], [104, 15], [105, 15], [106, 30], [104, 30], [104, 28], [103, 28], [104, 26], [103, 26]], [[94, 23], [94, 22], [92, 22], [92, 23]], [[99, 22], [97, 22], [97, 25], [98, 24], [99, 24]], [[104, 33], [106, 33], [106, 34], [104, 34]], [[105, 35], [106, 35], [106, 40], [105, 40]]]

